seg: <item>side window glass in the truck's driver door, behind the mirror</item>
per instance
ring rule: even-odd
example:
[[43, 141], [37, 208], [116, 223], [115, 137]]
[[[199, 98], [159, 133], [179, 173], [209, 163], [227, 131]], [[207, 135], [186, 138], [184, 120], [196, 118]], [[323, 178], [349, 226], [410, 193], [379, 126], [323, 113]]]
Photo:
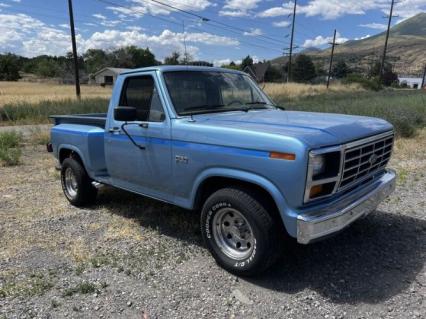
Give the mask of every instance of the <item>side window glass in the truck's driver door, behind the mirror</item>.
[[152, 76], [128, 78], [121, 94], [120, 106], [135, 107], [138, 121], [162, 122], [165, 118]]

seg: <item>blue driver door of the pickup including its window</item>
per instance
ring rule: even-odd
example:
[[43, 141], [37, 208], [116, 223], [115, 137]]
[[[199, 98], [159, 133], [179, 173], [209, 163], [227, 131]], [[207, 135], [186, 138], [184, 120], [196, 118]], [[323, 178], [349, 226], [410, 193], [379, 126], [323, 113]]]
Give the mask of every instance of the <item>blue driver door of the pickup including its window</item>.
[[119, 104], [136, 108], [137, 121], [125, 124], [124, 128], [144, 149], [135, 146], [126, 136], [122, 130], [124, 122], [111, 121], [105, 154], [112, 184], [156, 198], [168, 197], [171, 131], [155, 73], [126, 78]]

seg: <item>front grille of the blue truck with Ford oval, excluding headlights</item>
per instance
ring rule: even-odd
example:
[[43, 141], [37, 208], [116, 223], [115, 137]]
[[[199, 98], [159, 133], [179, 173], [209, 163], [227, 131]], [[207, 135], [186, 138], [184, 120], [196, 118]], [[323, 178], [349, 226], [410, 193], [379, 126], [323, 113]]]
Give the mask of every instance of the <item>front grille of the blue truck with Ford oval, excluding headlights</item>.
[[383, 170], [390, 160], [393, 140], [392, 134], [347, 148], [339, 190], [361, 183]]

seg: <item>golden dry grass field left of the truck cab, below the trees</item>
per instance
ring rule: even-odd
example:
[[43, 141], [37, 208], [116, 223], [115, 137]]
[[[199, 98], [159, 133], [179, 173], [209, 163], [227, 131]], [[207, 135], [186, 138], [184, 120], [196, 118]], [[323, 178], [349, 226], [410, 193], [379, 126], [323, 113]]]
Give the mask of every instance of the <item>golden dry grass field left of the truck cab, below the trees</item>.
[[[82, 85], [83, 98], [109, 98], [111, 87]], [[75, 97], [75, 86], [31, 82], [1, 82], [0, 107], [8, 103], [58, 101]]]

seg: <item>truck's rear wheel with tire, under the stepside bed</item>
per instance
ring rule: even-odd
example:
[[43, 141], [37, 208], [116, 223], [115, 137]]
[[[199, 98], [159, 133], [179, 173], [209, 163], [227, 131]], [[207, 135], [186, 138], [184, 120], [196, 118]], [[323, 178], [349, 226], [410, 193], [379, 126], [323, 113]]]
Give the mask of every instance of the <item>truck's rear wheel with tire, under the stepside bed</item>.
[[96, 187], [92, 185], [83, 165], [73, 158], [67, 158], [62, 163], [61, 184], [65, 197], [74, 206], [85, 206], [96, 200]]

